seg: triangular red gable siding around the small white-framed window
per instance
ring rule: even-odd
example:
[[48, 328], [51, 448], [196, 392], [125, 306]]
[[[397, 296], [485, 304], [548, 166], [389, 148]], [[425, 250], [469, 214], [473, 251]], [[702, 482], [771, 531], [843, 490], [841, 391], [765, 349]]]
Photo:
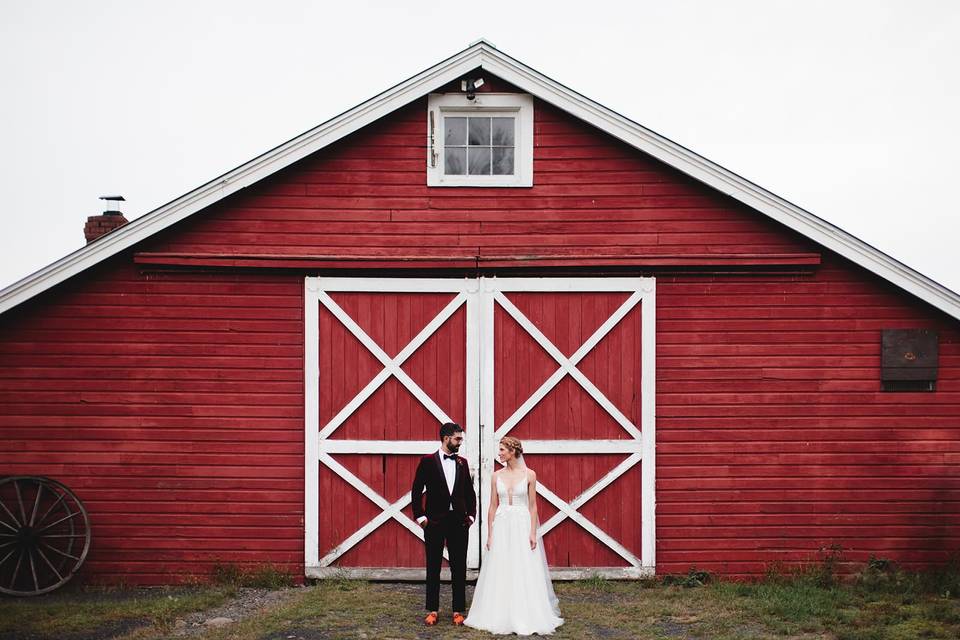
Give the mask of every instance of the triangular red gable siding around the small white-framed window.
[[147, 243], [182, 254], [756, 254], [796, 234], [537, 102], [532, 188], [426, 186], [426, 101]]

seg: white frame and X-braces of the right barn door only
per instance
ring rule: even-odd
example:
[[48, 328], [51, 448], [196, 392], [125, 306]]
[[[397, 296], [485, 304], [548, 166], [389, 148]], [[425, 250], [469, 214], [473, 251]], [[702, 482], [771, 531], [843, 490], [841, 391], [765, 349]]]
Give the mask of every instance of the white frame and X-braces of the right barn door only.
[[[602, 544], [623, 558], [629, 567], [604, 567], [599, 571], [605, 577], [635, 578], [655, 573], [655, 375], [656, 375], [656, 282], [653, 278], [482, 278], [481, 307], [483, 343], [480, 349], [482, 379], [480, 392], [481, 461], [480, 486], [490, 486], [490, 476], [497, 457], [497, 442], [516, 426], [564, 377], [573, 378], [610, 416], [626, 431], [631, 439], [623, 440], [524, 440], [525, 453], [553, 454], [599, 454], [623, 453], [627, 458], [610, 470], [603, 478], [567, 502], [553, 493], [542, 482], [537, 483], [537, 493], [557, 508], [555, 513], [540, 526], [546, 534], [565, 519], [570, 518]], [[510, 300], [508, 292], [623, 292], [629, 297], [613, 314], [577, 349], [570, 358], [547, 338]], [[640, 425], [630, 422], [623, 413], [579, 370], [577, 364], [637, 305], [641, 314], [640, 351]], [[501, 419], [494, 415], [494, 311], [499, 306], [519, 324], [557, 364], [557, 370], [513, 413]], [[498, 420], [500, 420], [498, 422]], [[587, 501], [613, 481], [643, 460], [641, 466], [641, 556], [637, 558], [620, 542], [603, 531], [579, 512]], [[575, 464], [576, 458], [572, 458]], [[482, 516], [490, 503], [490, 491], [483, 496]], [[481, 527], [481, 543], [486, 542], [486, 526]], [[483, 549], [483, 545], [481, 545]], [[599, 568], [553, 569], [555, 577], [580, 578], [598, 573]]]

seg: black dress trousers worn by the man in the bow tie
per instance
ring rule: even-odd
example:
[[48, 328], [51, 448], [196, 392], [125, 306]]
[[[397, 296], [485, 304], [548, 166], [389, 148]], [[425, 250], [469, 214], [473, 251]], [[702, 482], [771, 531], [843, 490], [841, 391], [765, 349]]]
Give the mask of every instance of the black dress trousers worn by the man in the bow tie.
[[447, 514], [441, 520], [427, 522], [424, 548], [427, 552], [427, 611], [440, 609], [440, 565], [443, 547], [450, 556], [450, 579], [453, 586], [453, 611], [466, 614], [467, 606], [467, 540], [469, 528], [463, 514]]

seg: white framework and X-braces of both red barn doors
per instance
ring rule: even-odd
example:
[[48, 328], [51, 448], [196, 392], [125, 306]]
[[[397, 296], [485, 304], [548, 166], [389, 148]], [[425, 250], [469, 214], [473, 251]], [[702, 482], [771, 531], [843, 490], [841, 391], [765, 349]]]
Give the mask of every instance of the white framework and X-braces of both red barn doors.
[[[367, 484], [357, 478], [333, 454], [427, 454], [437, 448], [436, 440], [425, 441], [372, 441], [333, 440], [330, 435], [341, 426], [391, 376], [397, 380], [439, 422], [450, 420], [442, 409], [402, 370], [401, 365], [433, 333], [439, 329], [461, 306], [466, 305], [466, 439], [461, 449], [470, 465], [474, 489], [483, 489], [482, 505], [478, 509], [477, 522], [471, 527], [470, 546], [467, 552], [468, 568], [476, 569], [482, 543], [486, 540], [486, 505], [489, 504], [490, 473], [496, 458], [496, 442], [516, 425], [560, 380], [571, 376], [613, 419], [632, 436], [624, 440], [540, 440], [526, 441], [524, 449], [529, 453], [626, 453], [627, 458], [614, 467], [606, 476], [586, 489], [569, 503], [559, 498], [542, 483], [538, 492], [557, 509], [541, 527], [543, 533], [570, 518], [587, 532], [624, 558], [628, 567], [552, 570], [554, 578], [577, 579], [584, 575], [602, 575], [613, 578], [635, 578], [655, 572], [655, 348], [656, 332], [656, 283], [653, 278], [325, 278], [307, 277], [304, 284], [305, 335], [304, 335], [304, 571], [308, 578], [332, 575], [350, 575], [366, 578], [410, 578], [422, 574], [422, 569], [340, 569], [333, 563], [381, 524], [392, 519], [421, 540], [423, 531], [404, 513], [410, 503], [406, 494], [390, 503]], [[347, 314], [328, 292], [429, 292], [455, 293], [454, 299], [406, 345], [395, 358], [390, 358], [383, 349]], [[504, 295], [511, 291], [544, 292], [591, 292], [622, 291], [629, 293], [624, 302], [594, 332], [569, 359], [566, 358]], [[609, 333], [616, 324], [637, 304], [641, 305], [641, 422], [639, 429], [633, 425], [578, 369], [577, 364]], [[319, 428], [319, 309], [323, 305], [377, 358], [383, 369], [326, 425]], [[557, 371], [527, 399], [512, 416], [496, 425], [493, 415], [493, 319], [495, 306], [499, 305], [556, 361]], [[481, 342], [482, 340], [482, 342]], [[477, 428], [478, 425], [483, 425]], [[482, 443], [481, 443], [481, 438]], [[481, 449], [482, 444], [482, 449]], [[483, 453], [483, 459], [480, 453]], [[606, 486], [643, 460], [641, 468], [641, 557], [636, 558], [618, 541], [588, 520], [578, 509], [597, 495]], [[319, 464], [343, 478], [382, 510], [370, 522], [358, 529], [346, 540], [329, 551], [323, 558], [319, 553]], [[479, 473], [478, 473], [479, 471]]]

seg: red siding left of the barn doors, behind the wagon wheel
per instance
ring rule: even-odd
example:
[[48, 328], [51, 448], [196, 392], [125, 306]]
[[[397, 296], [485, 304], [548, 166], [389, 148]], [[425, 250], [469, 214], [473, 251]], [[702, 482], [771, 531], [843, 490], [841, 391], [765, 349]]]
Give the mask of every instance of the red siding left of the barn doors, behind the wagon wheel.
[[0, 317], [0, 475], [85, 503], [87, 579], [302, 573], [302, 288], [126, 255]]

